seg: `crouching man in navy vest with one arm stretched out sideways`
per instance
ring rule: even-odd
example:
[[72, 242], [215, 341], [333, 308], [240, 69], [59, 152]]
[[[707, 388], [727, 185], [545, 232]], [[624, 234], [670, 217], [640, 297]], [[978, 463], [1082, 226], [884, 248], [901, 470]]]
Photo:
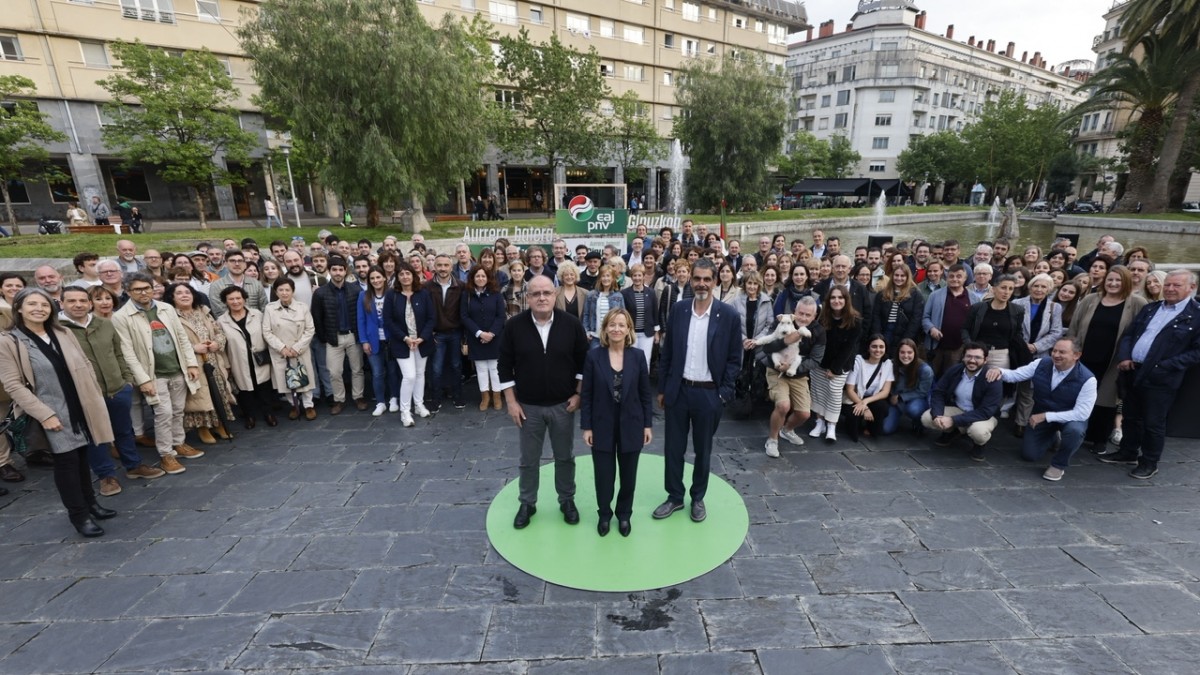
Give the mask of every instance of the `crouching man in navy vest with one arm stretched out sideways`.
[[1054, 344], [1050, 357], [1028, 363], [1016, 370], [994, 368], [988, 381], [1033, 383], [1033, 414], [1030, 428], [1021, 438], [1021, 458], [1037, 461], [1061, 435], [1058, 452], [1050, 458], [1050, 467], [1042, 474], [1046, 480], [1062, 480], [1070, 456], [1084, 442], [1087, 419], [1096, 405], [1096, 376], [1079, 363], [1084, 346], [1075, 338], [1062, 338]]

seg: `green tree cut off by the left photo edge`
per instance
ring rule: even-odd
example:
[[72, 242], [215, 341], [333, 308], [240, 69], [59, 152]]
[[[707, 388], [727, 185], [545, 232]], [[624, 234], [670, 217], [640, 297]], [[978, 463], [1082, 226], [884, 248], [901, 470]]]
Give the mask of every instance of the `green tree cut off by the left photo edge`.
[[24, 178], [53, 180], [61, 172], [47, 163], [46, 143], [66, 141], [67, 137], [46, 123], [37, 103], [25, 97], [37, 92], [34, 80], [19, 74], [0, 76], [0, 192], [4, 193], [5, 215], [13, 234], [20, 234], [17, 214], [12, 210], [8, 181]]

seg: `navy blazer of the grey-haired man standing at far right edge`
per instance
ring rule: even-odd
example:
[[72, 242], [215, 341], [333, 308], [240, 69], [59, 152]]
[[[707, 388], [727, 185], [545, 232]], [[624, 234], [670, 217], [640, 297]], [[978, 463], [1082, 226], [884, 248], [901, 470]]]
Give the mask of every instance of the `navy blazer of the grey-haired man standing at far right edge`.
[[[1134, 386], [1178, 389], [1188, 369], [1200, 364], [1200, 303], [1193, 298], [1183, 303], [1180, 315], [1163, 327], [1146, 360], [1134, 371]], [[1162, 300], [1151, 303], [1133, 319], [1117, 346], [1117, 362], [1133, 358], [1133, 346], [1162, 305]]]

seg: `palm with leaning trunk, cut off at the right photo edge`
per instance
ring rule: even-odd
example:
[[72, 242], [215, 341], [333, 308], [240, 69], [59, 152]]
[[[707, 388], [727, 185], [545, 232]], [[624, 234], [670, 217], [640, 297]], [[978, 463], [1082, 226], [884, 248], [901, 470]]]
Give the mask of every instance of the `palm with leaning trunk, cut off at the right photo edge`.
[[[1164, 41], [1177, 42], [1183, 50], [1200, 50], [1200, 0], [1130, 0], [1123, 17], [1127, 54], [1139, 41], [1153, 34], [1162, 35]], [[1168, 208], [1171, 174], [1180, 161], [1198, 94], [1200, 68], [1192, 68], [1183, 73], [1175, 110], [1163, 137], [1150, 198], [1144, 202], [1147, 211]]]

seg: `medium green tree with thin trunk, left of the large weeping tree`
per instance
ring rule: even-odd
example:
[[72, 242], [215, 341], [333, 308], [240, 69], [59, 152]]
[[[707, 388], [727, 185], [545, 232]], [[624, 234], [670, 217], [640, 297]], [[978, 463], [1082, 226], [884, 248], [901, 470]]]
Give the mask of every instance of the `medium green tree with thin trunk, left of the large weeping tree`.
[[114, 101], [104, 106], [112, 119], [104, 143], [126, 163], [157, 166], [163, 180], [192, 187], [200, 228], [206, 229], [204, 196], [214, 180], [245, 180], [214, 159], [245, 162], [257, 144], [238, 121], [233, 78], [208, 49], [172, 54], [140, 41], [116, 41], [112, 49], [124, 72], [97, 83]]

